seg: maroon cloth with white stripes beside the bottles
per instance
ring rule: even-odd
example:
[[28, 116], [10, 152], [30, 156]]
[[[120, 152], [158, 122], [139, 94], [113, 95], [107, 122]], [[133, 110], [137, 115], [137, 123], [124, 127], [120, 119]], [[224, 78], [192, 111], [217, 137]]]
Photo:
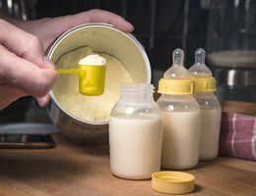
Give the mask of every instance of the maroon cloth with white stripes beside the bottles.
[[256, 161], [256, 117], [223, 113], [219, 154]]

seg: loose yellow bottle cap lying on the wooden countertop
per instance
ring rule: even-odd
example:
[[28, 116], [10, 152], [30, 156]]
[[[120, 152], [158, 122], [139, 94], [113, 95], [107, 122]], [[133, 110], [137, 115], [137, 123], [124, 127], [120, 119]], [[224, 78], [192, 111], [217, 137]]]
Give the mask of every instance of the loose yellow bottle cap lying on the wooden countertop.
[[189, 193], [195, 188], [195, 176], [187, 172], [155, 172], [152, 188], [161, 193]]

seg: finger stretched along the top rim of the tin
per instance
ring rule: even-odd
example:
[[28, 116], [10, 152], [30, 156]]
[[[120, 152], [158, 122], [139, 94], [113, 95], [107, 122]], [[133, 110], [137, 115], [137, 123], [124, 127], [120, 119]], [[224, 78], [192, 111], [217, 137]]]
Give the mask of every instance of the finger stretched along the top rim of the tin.
[[79, 24], [85, 24], [85, 19], [87, 19], [87, 23], [111, 24], [126, 32], [132, 32], [134, 30], [133, 25], [125, 21], [122, 17], [103, 10], [90, 10], [74, 15], [73, 18], [75, 18], [73, 21], [76, 21]]

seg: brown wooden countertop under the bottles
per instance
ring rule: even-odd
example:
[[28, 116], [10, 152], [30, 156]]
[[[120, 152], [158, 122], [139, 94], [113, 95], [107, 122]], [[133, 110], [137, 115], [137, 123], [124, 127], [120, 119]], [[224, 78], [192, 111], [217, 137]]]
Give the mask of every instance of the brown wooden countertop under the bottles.
[[[75, 145], [54, 135], [47, 150], [0, 150], [0, 196], [166, 195], [151, 180], [124, 180], [109, 171], [108, 146]], [[189, 195], [256, 195], [256, 162], [217, 158], [189, 170]]]

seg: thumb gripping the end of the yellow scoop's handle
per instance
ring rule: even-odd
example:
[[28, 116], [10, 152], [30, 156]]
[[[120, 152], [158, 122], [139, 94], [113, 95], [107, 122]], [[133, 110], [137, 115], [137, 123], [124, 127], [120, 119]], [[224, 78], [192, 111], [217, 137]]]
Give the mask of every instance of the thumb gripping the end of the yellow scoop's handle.
[[25, 93], [41, 97], [48, 93], [58, 73], [47, 67], [38, 68], [31, 62], [17, 57], [0, 45], [0, 79]]

